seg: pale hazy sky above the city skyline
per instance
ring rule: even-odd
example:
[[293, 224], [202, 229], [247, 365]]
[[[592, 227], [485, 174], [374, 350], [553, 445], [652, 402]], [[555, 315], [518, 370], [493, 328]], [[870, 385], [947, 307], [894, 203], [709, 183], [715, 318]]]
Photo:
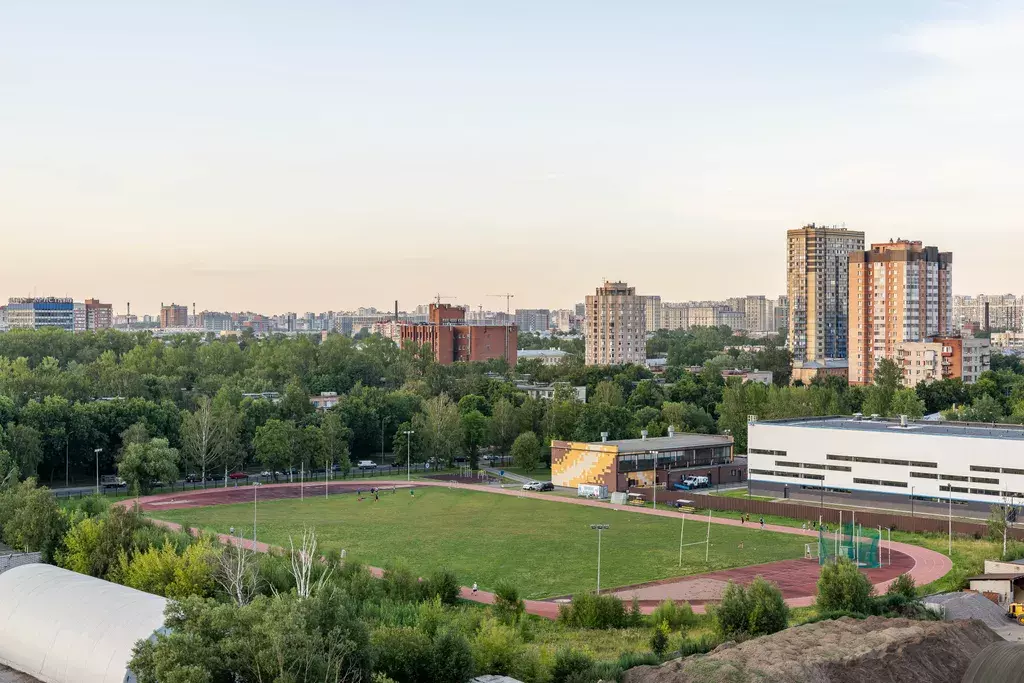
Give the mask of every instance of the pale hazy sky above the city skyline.
[[809, 221], [1020, 292], [1024, 2], [0, 0], [0, 296], [778, 294]]

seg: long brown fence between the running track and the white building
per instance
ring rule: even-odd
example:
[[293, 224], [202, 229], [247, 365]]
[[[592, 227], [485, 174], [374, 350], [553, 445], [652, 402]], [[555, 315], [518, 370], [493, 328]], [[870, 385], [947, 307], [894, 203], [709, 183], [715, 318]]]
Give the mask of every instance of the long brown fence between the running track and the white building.
[[[816, 522], [820, 518], [825, 524], [835, 526], [840, 523], [840, 515], [844, 522], [851, 521], [853, 512], [857, 514], [857, 523], [864, 528], [891, 528], [903, 531], [934, 531], [936, 533], [946, 533], [949, 530], [949, 521], [940, 517], [918, 517], [888, 512], [862, 512], [860, 510], [839, 510], [835, 508], [818, 507], [816, 505], [801, 505], [797, 503], [773, 503], [769, 501], [752, 501], [743, 498], [727, 498], [725, 496], [708, 496], [706, 494], [694, 494], [687, 492], [686, 499], [693, 501], [693, 506], [705, 510], [733, 511], [749, 513], [752, 516], [760, 517], [775, 516], [790, 517]], [[953, 520], [953, 533], [973, 536], [981, 538], [988, 533], [988, 527], [983, 522], [967, 522]], [[1007, 537], [1024, 541], [1024, 528], [1011, 527], [1007, 529]]]

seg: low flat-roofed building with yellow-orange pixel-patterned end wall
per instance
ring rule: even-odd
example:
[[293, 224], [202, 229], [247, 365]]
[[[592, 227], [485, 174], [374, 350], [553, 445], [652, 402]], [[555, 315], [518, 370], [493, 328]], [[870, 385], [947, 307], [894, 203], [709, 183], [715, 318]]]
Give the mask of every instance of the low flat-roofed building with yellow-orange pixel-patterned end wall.
[[607, 486], [608, 493], [635, 486], [672, 487], [688, 476], [707, 476], [714, 486], [738, 483], [745, 467], [734, 462], [732, 437], [677, 434], [616, 441], [552, 441], [551, 482], [556, 486]]

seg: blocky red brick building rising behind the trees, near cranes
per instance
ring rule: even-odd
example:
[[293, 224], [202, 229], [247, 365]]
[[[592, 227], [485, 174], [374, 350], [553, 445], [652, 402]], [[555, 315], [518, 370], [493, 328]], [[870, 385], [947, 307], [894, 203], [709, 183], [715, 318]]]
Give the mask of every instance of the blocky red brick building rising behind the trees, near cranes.
[[503, 357], [511, 366], [516, 364], [516, 326], [466, 325], [466, 309], [461, 306], [430, 304], [428, 323], [402, 323], [400, 327], [402, 346], [429, 344], [442, 366]]

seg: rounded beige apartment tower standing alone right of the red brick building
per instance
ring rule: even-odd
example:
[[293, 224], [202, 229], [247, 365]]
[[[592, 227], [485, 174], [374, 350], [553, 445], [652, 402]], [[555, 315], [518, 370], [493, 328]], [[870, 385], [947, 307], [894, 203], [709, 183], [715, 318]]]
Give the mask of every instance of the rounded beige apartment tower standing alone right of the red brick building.
[[588, 366], [642, 364], [647, 359], [647, 302], [626, 283], [604, 283], [587, 297]]

